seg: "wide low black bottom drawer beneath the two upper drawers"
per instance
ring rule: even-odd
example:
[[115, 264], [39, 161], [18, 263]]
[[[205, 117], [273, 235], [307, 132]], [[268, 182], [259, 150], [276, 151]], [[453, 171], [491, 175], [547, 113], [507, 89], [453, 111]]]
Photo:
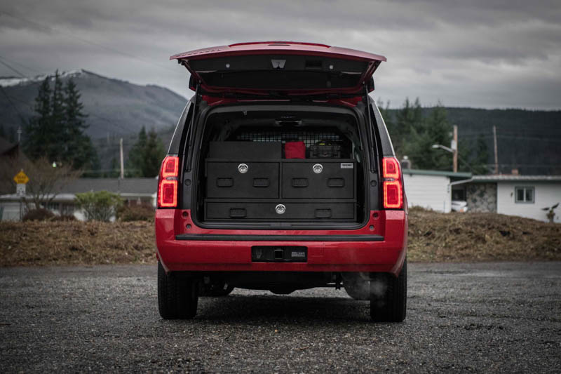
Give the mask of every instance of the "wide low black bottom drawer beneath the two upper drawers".
[[355, 208], [354, 202], [205, 201], [205, 220], [352, 220]]

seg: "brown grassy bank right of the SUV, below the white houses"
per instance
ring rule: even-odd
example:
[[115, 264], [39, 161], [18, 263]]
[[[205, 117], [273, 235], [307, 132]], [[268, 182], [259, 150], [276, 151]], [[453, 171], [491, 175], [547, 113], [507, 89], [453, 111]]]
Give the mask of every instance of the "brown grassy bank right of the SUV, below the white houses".
[[561, 260], [561, 225], [416, 208], [410, 211], [408, 253], [423, 262]]

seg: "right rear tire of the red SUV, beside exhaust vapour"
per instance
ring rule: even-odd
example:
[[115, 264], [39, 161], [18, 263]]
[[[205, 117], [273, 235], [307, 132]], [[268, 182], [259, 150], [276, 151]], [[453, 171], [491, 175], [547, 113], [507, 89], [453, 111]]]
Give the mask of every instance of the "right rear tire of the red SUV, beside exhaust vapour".
[[380, 274], [370, 282], [370, 318], [375, 322], [401, 322], [407, 314], [407, 259], [396, 278]]

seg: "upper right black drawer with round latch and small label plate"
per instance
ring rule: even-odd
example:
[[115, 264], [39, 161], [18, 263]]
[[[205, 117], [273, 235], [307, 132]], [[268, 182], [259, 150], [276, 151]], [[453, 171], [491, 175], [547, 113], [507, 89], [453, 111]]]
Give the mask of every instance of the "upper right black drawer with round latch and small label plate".
[[282, 163], [282, 197], [285, 199], [353, 199], [353, 160], [302, 160]]

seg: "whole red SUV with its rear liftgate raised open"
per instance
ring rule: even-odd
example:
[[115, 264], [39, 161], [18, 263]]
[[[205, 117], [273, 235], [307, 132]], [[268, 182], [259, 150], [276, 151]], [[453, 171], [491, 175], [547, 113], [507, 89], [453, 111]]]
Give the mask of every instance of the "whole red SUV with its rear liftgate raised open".
[[374, 321], [403, 321], [407, 201], [369, 95], [386, 58], [267, 41], [171, 59], [195, 94], [159, 175], [161, 316], [235, 287], [343, 287]]

